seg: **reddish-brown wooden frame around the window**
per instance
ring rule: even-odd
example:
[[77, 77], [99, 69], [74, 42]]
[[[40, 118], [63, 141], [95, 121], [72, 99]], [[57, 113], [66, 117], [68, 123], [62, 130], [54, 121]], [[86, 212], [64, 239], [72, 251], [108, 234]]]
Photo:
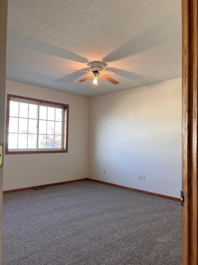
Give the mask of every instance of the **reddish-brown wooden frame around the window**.
[[[8, 151], [8, 133], [9, 133], [9, 117], [10, 117], [10, 100], [11, 100], [11, 98], [18, 98], [18, 99], [22, 99], [22, 100], [33, 101], [36, 103], [45, 103], [45, 104], [49, 104], [49, 105], [64, 107], [63, 149], [61, 149], [61, 150], [50, 150], [50, 149], [48, 150], [48, 149], [46, 149], [46, 150], [33, 150], [33, 151], [30, 151], [30, 150], [28, 150], [28, 151], [21, 151], [21, 150], [20, 151]], [[68, 152], [68, 129], [69, 129], [69, 105], [68, 104], [7, 94], [6, 144], [5, 144], [5, 154], [6, 155], [8, 155], [8, 154], [67, 153]]]

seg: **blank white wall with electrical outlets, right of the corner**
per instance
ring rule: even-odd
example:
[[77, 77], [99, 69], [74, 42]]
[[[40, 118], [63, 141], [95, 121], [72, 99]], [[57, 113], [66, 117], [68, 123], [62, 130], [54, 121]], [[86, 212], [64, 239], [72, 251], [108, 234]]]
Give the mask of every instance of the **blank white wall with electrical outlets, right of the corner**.
[[179, 198], [181, 90], [177, 78], [90, 98], [88, 177]]

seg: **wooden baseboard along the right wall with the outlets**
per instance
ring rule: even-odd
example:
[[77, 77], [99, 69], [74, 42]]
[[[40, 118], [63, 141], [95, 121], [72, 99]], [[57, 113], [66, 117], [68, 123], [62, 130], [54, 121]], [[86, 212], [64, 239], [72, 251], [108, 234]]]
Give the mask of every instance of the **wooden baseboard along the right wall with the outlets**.
[[94, 180], [94, 179], [90, 179], [90, 178], [87, 178], [87, 180], [180, 202], [179, 198], [175, 198], [175, 197], [171, 197], [171, 196], [167, 196], [167, 195], [162, 195], [162, 194], [158, 194], [158, 193], [154, 193], [154, 192], [150, 192], [150, 191], [145, 191], [145, 190], [138, 190], [138, 189], [134, 189], [134, 188], [129, 188], [129, 187], [125, 187], [125, 186], [122, 186], [122, 185], [117, 185], [117, 184], [113, 184], [113, 183], [109, 183], [109, 182], [105, 182], [105, 181], [101, 181], [101, 180]]

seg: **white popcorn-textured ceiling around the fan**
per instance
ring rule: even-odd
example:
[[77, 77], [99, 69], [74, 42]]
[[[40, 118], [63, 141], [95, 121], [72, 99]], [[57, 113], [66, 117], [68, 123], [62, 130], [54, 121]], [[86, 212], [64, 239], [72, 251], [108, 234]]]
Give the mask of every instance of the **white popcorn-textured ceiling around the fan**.
[[[91, 61], [120, 83], [79, 83]], [[87, 97], [180, 77], [181, 1], [8, 0], [6, 75]]]

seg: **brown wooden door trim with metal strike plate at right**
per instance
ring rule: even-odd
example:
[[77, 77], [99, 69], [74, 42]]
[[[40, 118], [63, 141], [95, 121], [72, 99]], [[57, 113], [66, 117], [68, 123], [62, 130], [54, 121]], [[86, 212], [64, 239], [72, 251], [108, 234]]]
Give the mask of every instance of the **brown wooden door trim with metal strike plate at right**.
[[183, 265], [198, 264], [197, 236], [197, 0], [182, 0]]

